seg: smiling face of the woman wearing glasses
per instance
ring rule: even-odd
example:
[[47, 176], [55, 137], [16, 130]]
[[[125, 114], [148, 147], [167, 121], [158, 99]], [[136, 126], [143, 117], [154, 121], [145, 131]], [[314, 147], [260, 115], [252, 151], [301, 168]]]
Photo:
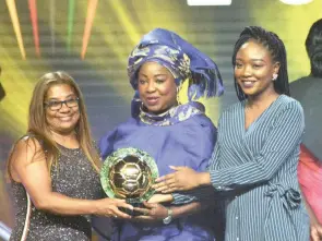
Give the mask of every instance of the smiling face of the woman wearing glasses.
[[[56, 133], [68, 134], [75, 130], [80, 120], [79, 105], [68, 107], [65, 103], [61, 108], [53, 110], [50, 105], [58, 105], [59, 101], [72, 103], [77, 98], [74, 89], [68, 84], [57, 84], [49, 87], [45, 98], [46, 122], [49, 129]], [[70, 104], [69, 104], [70, 105]]]

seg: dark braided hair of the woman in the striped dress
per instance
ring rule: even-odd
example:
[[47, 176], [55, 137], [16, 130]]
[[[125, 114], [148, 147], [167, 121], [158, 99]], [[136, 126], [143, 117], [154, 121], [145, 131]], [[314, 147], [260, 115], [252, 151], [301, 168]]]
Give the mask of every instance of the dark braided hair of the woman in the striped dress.
[[[232, 67], [235, 68], [236, 65], [236, 55], [238, 50], [245, 43], [249, 41], [250, 39], [254, 39], [255, 41], [267, 48], [267, 50], [271, 52], [273, 61], [279, 62], [281, 67], [278, 70], [278, 76], [276, 81], [274, 81], [274, 88], [275, 92], [277, 92], [278, 94], [285, 94], [289, 96], [286, 49], [284, 43], [275, 33], [269, 32], [260, 26], [246, 27], [241, 32], [239, 39], [235, 44], [232, 53]], [[236, 77], [235, 89], [239, 100], [247, 99], [247, 96], [243, 94], [242, 89], [238, 85]]]

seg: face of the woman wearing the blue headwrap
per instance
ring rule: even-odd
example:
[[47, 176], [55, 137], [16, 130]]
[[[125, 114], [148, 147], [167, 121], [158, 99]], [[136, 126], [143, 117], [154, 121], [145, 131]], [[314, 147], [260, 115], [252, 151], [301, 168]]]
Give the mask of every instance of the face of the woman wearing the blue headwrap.
[[138, 80], [140, 98], [148, 112], [162, 113], [177, 105], [177, 85], [165, 67], [146, 62], [140, 68]]

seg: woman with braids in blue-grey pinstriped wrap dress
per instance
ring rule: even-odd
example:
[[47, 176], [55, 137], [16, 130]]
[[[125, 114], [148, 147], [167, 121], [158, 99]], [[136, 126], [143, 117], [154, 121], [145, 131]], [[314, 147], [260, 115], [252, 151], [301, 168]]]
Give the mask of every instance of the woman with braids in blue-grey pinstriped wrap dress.
[[[297, 179], [305, 130], [300, 104], [288, 96], [286, 51], [274, 33], [247, 27], [232, 56], [239, 103], [218, 122], [208, 172], [186, 167], [159, 179], [158, 191], [212, 185], [226, 202], [226, 241], [307, 241], [309, 216]], [[189, 179], [187, 179], [189, 177]], [[177, 196], [175, 203], [195, 196]]]

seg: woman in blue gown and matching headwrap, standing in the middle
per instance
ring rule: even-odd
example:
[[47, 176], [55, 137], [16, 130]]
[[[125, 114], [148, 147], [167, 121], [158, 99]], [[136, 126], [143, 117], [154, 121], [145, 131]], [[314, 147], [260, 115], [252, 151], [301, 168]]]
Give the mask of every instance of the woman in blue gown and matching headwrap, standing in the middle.
[[[112, 152], [134, 147], [148, 153], [159, 174], [179, 165], [203, 171], [216, 141], [216, 128], [205, 116], [201, 96], [223, 93], [216, 64], [189, 43], [166, 29], [146, 34], [129, 57], [128, 73], [135, 89], [132, 118], [100, 140], [105, 159]], [[178, 100], [189, 81], [189, 103]], [[174, 194], [176, 195], [176, 194]], [[214, 240], [215, 209], [198, 202], [187, 205], [145, 203], [144, 215], [115, 220], [111, 240]]]

